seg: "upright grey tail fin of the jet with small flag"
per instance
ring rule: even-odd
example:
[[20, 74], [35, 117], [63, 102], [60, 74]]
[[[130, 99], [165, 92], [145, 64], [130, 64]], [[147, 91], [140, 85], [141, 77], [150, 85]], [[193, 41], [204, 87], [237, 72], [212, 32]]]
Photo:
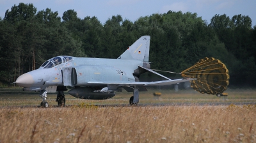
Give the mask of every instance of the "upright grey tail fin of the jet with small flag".
[[141, 36], [135, 41], [129, 49], [118, 57], [118, 59], [138, 59], [143, 62], [148, 62], [150, 47], [150, 36]]

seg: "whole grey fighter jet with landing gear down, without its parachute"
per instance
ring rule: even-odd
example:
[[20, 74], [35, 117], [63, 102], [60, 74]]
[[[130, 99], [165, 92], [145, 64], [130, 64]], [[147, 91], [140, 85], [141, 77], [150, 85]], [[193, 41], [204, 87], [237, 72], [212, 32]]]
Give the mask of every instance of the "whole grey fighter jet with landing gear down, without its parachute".
[[[24, 91], [40, 91], [43, 99], [41, 106], [48, 107], [47, 92], [58, 92], [56, 102], [65, 105], [67, 87], [69, 94], [76, 98], [105, 100], [125, 89], [133, 92], [129, 103], [139, 102], [139, 91], [147, 91], [147, 86], [177, 84], [195, 79], [169, 79], [150, 70], [149, 59], [150, 36], [141, 36], [129, 49], [117, 59], [89, 57], [57, 56], [45, 61], [37, 70], [20, 75], [17, 86]], [[140, 75], [151, 72], [166, 80], [140, 82]]]

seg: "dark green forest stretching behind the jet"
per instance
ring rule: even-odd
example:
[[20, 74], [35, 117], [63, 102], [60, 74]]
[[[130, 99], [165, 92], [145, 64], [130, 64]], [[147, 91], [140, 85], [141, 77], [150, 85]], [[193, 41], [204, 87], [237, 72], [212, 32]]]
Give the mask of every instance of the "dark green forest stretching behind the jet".
[[[111, 15], [109, 15], [111, 16]], [[35, 70], [54, 56], [117, 58], [134, 41], [150, 35], [152, 69], [182, 72], [204, 57], [226, 64], [230, 86], [256, 86], [256, 26], [246, 15], [212, 15], [168, 11], [134, 22], [113, 15], [104, 24], [97, 17], [77, 17], [67, 10], [37, 11], [19, 3], [0, 17], [0, 87], [13, 86], [19, 75]], [[168, 75], [171, 79], [177, 75]]]

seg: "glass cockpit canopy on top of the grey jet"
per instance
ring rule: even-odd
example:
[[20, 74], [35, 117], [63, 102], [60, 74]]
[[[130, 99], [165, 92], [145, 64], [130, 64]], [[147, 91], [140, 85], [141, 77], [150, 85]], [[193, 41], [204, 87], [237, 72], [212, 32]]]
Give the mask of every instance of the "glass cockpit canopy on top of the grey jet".
[[66, 63], [67, 61], [72, 60], [72, 57], [70, 56], [58, 56], [58, 57], [52, 57], [51, 59], [45, 61], [40, 68], [52, 68], [53, 66], [57, 66], [61, 63]]

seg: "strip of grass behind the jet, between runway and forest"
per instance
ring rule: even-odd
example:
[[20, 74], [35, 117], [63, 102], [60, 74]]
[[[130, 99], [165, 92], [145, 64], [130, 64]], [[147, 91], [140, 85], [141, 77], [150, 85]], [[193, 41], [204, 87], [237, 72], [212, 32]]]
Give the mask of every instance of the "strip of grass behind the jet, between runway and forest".
[[[153, 96], [154, 92], [162, 93], [160, 98]], [[157, 90], [149, 89], [148, 92], [140, 92], [140, 103], [252, 103], [256, 104], [256, 89], [228, 89], [225, 93], [228, 93], [227, 98], [217, 97], [209, 94], [200, 94], [193, 89], [180, 90], [175, 92], [174, 90]], [[91, 105], [111, 105], [122, 104], [128, 105], [129, 98], [132, 93], [123, 91], [122, 93], [116, 93], [111, 99], [108, 100], [81, 100], [70, 96], [65, 93], [66, 105], [77, 105], [81, 103]], [[49, 105], [57, 105], [55, 102], [56, 93], [47, 94], [47, 102]], [[19, 105], [39, 105], [42, 102], [42, 98], [39, 97], [38, 92], [34, 91], [22, 91], [21, 88], [12, 89], [0, 89], [0, 106], [19, 106]]]

